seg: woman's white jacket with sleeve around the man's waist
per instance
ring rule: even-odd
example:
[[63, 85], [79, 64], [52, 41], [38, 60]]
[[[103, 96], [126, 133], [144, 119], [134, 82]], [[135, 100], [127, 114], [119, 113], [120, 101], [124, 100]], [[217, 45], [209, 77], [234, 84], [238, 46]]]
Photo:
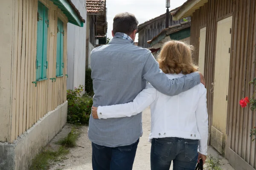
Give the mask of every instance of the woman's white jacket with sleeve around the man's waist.
[[[183, 74], [167, 74], [169, 79]], [[134, 116], [150, 105], [151, 133], [153, 138], [177, 137], [199, 139], [198, 152], [207, 155], [208, 114], [206, 88], [203, 84], [176, 96], [167, 96], [157, 91], [151, 84], [136, 96], [133, 102], [99, 106], [99, 119]]]

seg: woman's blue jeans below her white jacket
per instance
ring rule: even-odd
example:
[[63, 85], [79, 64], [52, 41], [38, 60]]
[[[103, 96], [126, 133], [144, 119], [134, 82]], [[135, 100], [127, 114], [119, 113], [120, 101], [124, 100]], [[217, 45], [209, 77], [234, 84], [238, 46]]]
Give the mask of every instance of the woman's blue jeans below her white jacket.
[[151, 170], [195, 170], [198, 160], [198, 140], [183, 138], [153, 139]]

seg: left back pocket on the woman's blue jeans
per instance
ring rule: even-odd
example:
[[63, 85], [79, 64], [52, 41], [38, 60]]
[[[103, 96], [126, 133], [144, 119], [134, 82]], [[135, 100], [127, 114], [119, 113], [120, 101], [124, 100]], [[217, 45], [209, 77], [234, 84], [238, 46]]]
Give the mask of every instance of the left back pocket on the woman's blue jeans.
[[163, 142], [155, 139], [154, 153], [160, 158], [166, 158], [172, 149], [172, 142]]

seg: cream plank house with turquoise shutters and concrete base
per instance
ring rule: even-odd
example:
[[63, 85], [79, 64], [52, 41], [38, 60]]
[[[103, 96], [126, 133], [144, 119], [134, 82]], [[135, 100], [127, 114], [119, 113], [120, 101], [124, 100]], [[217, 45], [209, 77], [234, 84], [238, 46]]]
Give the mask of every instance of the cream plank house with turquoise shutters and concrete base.
[[4, 0], [0, 6], [0, 169], [29, 162], [67, 121], [67, 23], [71, 0]]

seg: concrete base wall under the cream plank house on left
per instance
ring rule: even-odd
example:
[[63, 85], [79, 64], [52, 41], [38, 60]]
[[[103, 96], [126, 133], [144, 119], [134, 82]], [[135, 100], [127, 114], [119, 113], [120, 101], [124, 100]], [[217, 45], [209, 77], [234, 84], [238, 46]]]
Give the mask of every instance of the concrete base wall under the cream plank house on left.
[[0, 170], [28, 170], [32, 158], [60, 132], [66, 121], [67, 102], [64, 102], [47, 113], [13, 144], [0, 143]]

